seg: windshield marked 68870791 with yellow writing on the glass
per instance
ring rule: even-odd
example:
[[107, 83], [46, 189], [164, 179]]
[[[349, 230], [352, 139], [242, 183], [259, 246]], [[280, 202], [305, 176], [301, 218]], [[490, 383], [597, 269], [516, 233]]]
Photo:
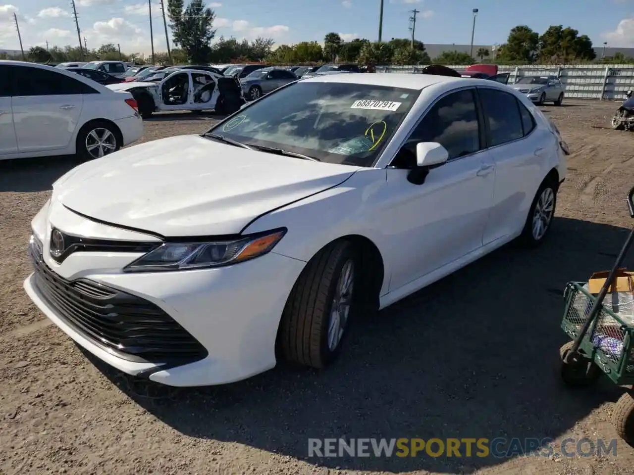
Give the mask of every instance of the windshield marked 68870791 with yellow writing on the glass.
[[372, 167], [419, 94], [372, 84], [295, 82], [209, 133], [322, 162]]

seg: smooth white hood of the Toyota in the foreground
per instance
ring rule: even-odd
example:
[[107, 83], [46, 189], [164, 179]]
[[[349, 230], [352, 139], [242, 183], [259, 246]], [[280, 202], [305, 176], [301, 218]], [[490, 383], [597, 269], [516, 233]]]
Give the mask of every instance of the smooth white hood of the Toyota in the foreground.
[[356, 170], [176, 136], [79, 165], [53, 184], [53, 200], [165, 237], [220, 236], [337, 186]]

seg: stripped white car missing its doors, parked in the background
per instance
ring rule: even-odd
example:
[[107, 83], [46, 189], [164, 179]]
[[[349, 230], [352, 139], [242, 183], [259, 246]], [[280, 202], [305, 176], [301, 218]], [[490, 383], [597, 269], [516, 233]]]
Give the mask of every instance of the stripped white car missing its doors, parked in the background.
[[107, 87], [130, 92], [143, 118], [154, 112], [181, 110], [230, 114], [245, 103], [242, 86], [235, 79], [210, 71], [180, 69], [169, 75], [158, 71], [143, 82], [122, 82]]

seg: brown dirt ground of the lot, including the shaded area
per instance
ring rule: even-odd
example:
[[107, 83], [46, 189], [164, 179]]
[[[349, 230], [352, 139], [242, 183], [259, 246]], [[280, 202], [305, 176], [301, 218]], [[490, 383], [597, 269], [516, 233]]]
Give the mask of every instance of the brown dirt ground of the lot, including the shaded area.
[[[558, 374], [562, 289], [609, 268], [634, 224], [624, 201], [634, 132], [605, 128], [616, 107], [542, 108], [573, 155], [540, 249], [508, 246], [385, 309], [353, 329], [327, 371], [280, 365], [212, 388], [134, 381], [49, 324], [22, 289], [29, 222], [76, 162], [0, 163], [0, 473], [634, 473], [622, 441], [616, 457], [307, 457], [308, 438], [616, 437], [609, 415], [621, 390], [599, 381], [571, 391]], [[212, 120], [159, 115], [143, 141]]]

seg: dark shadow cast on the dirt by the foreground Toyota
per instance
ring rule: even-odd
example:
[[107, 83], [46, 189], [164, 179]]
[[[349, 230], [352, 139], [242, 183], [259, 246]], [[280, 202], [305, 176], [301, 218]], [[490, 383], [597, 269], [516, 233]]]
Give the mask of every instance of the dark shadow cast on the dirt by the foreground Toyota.
[[[609, 269], [626, 230], [556, 219], [548, 243], [507, 246], [357, 322], [327, 371], [280, 365], [240, 383], [169, 388], [95, 364], [180, 433], [326, 467], [471, 472], [505, 459], [307, 457], [308, 438], [557, 438], [619, 389], [559, 379], [567, 281]], [[500, 448], [503, 448], [501, 446]], [[462, 455], [465, 455], [464, 452]]]

